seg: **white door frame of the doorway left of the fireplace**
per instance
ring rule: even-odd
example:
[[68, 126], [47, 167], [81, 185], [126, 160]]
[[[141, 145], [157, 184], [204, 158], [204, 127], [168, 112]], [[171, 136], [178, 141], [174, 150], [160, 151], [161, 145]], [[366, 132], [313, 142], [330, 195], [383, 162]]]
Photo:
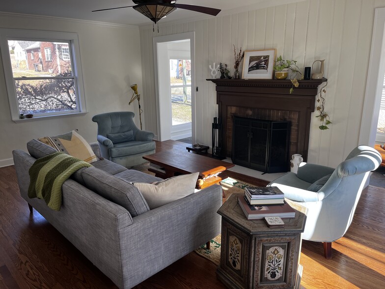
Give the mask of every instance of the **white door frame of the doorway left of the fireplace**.
[[160, 94], [159, 94], [159, 71], [158, 71], [158, 43], [185, 40], [190, 39], [190, 53], [191, 53], [191, 114], [192, 114], [192, 144], [195, 143], [196, 134], [195, 134], [195, 32], [186, 32], [180, 34], [172, 34], [165, 36], [157, 36], [153, 38], [153, 50], [154, 50], [154, 68], [155, 68], [155, 99], [157, 105], [157, 129], [158, 129], [158, 141], [165, 141], [162, 136], [162, 126], [161, 126], [161, 104], [160, 104]]

